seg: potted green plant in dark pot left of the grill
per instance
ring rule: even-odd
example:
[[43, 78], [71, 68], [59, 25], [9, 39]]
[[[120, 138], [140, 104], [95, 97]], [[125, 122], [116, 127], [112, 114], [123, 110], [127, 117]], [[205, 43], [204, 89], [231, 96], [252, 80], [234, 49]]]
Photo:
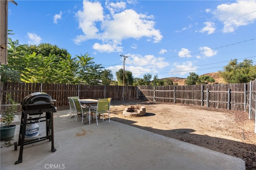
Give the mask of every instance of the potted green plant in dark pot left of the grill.
[[16, 105], [17, 102], [14, 102], [11, 98], [11, 94], [7, 94], [7, 102], [6, 104], [10, 104], [6, 111], [3, 113], [1, 112], [1, 119], [2, 123], [5, 123], [5, 126], [1, 125], [0, 132], [1, 132], [1, 141], [7, 141], [14, 137], [16, 125], [10, 125], [12, 121], [14, 121], [14, 117], [16, 112], [18, 111]]

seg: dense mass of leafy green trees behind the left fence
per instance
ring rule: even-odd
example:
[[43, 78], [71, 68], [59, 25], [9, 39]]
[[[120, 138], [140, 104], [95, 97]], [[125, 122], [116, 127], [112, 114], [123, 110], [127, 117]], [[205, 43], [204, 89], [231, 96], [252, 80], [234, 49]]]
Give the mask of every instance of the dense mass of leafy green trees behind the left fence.
[[[72, 58], [66, 49], [48, 43], [28, 46], [8, 38], [8, 65], [0, 68], [1, 80], [101, 84], [101, 80], [107, 80], [102, 74], [104, 67], [95, 64], [93, 59], [87, 53]], [[112, 78], [112, 74], [109, 74], [108, 78]]]

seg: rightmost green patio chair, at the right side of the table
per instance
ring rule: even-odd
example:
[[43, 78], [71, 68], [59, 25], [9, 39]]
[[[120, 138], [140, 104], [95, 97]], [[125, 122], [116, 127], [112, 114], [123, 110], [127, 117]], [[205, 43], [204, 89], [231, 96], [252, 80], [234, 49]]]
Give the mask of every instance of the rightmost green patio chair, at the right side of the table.
[[[92, 115], [94, 114], [96, 116], [97, 126], [98, 126], [98, 114], [100, 118], [101, 113], [102, 113], [102, 121], [104, 121], [104, 113], [108, 113], [108, 121], [110, 123], [110, 116], [109, 116], [110, 102], [111, 102], [111, 98], [98, 99], [96, 110], [90, 111]], [[89, 123], [90, 123], [90, 114], [89, 114]]]

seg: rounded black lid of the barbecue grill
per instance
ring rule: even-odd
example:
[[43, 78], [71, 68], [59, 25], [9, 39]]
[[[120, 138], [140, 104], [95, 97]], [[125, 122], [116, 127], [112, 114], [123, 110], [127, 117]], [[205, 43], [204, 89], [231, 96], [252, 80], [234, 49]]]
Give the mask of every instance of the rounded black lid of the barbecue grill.
[[24, 97], [22, 102], [20, 102], [20, 104], [22, 106], [34, 106], [34, 105], [45, 105], [45, 104], [51, 105], [52, 97], [45, 92], [35, 92]]

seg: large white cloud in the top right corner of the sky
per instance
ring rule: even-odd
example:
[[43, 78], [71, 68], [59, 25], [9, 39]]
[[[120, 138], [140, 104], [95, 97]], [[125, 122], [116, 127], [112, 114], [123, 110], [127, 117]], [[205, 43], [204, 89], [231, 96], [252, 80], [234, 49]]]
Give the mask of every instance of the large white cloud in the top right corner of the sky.
[[[234, 32], [239, 26], [254, 23], [255, 0], [238, 0], [234, 3], [221, 4], [214, 10], [214, 16], [224, 23], [222, 32]], [[252, 13], [251, 13], [252, 12]]]

